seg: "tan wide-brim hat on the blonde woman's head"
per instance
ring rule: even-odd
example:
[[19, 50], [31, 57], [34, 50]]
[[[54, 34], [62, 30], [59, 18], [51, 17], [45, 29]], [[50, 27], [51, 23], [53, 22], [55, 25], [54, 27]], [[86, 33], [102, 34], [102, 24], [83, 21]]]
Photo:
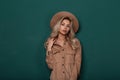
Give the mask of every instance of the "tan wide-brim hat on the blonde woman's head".
[[69, 17], [70, 19], [72, 19], [73, 30], [74, 30], [74, 32], [77, 32], [78, 28], [79, 28], [78, 19], [72, 13], [67, 12], [67, 11], [60, 11], [60, 12], [56, 13], [50, 21], [50, 27], [53, 28], [56, 25], [56, 23], [63, 17]]

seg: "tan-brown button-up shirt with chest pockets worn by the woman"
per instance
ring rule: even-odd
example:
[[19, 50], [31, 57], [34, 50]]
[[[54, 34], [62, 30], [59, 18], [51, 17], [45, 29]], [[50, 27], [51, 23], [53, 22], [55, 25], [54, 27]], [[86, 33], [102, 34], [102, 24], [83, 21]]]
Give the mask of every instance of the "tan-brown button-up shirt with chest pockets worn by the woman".
[[81, 67], [81, 45], [74, 39], [77, 48], [67, 41], [63, 46], [53, 43], [52, 50], [46, 51], [46, 63], [52, 70], [50, 80], [77, 80]]

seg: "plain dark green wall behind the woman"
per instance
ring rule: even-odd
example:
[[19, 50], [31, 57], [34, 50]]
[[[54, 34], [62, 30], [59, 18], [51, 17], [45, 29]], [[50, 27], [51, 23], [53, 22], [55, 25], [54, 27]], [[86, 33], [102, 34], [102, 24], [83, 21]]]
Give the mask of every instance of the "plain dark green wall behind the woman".
[[120, 80], [120, 0], [0, 0], [0, 80], [49, 80], [44, 42], [64, 10], [80, 22], [79, 80]]

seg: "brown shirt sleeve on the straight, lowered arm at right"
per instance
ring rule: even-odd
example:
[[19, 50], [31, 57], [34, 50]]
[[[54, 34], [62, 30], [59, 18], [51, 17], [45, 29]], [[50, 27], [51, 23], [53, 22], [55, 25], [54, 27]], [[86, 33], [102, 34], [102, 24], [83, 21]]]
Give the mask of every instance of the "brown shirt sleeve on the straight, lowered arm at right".
[[80, 75], [80, 68], [81, 68], [81, 44], [79, 40], [76, 41], [76, 44], [78, 47], [76, 48], [76, 54], [75, 54], [75, 63], [72, 69], [71, 73], [71, 79], [70, 80], [77, 80], [78, 75]]

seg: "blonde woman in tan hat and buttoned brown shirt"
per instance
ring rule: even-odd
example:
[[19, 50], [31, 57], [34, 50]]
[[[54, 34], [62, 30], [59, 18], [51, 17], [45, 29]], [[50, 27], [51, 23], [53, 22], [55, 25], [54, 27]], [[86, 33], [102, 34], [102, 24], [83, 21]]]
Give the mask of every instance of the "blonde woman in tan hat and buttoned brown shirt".
[[52, 33], [45, 43], [50, 80], [77, 80], [81, 67], [81, 44], [75, 38], [78, 20], [62, 11], [53, 16], [50, 26]]

